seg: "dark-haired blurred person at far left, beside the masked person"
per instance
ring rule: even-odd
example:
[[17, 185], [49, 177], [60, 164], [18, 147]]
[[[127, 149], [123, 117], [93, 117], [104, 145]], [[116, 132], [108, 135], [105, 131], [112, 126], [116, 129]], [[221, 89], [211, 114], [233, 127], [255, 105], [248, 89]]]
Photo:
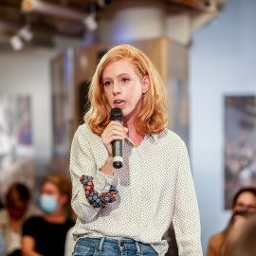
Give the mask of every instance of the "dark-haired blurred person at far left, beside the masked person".
[[6, 207], [0, 210], [0, 231], [6, 241], [8, 255], [21, 255], [21, 235], [30, 199], [27, 186], [12, 184], [6, 195]]

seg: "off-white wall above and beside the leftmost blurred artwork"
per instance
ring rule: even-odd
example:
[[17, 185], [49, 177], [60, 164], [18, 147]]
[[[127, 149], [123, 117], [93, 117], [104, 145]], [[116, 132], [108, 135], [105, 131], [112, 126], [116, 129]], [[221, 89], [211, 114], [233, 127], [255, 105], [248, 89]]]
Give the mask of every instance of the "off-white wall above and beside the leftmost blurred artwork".
[[28, 94], [31, 97], [33, 141], [38, 158], [51, 155], [50, 58], [56, 52], [47, 49], [11, 48], [0, 52], [0, 93]]

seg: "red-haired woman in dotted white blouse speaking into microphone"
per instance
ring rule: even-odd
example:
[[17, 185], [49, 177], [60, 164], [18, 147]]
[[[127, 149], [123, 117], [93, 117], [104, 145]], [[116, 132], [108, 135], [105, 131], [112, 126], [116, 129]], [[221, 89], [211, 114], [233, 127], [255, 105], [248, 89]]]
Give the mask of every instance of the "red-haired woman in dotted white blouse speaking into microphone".
[[[190, 161], [184, 142], [166, 129], [165, 86], [155, 66], [133, 46], [110, 49], [94, 74], [89, 100], [71, 148], [78, 215], [73, 255], [165, 255], [162, 236], [172, 220], [179, 255], [202, 255]], [[123, 125], [109, 121], [115, 107]], [[120, 169], [113, 167], [117, 139], [123, 140]]]

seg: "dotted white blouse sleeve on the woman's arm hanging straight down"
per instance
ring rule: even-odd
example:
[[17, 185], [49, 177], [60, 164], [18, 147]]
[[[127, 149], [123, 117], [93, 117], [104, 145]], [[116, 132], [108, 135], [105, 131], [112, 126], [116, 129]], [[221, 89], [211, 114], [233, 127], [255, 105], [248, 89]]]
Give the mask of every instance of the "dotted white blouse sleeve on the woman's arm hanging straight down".
[[178, 154], [178, 172], [174, 204], [174, 230], [179, 255], [201, 256], [201, 227], [194, 191], [190, 159], [182, 141]]

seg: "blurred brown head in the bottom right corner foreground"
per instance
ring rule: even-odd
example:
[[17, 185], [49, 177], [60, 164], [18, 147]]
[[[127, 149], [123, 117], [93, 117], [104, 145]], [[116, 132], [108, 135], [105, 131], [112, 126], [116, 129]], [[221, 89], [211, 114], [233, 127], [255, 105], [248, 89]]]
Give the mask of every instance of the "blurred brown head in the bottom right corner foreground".
[[256, 212], [247, 212], [236, 226], [230, 229], [227, 237], [225, 256], [255, 256]]

